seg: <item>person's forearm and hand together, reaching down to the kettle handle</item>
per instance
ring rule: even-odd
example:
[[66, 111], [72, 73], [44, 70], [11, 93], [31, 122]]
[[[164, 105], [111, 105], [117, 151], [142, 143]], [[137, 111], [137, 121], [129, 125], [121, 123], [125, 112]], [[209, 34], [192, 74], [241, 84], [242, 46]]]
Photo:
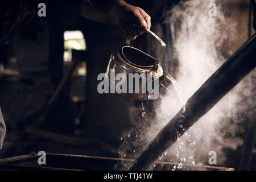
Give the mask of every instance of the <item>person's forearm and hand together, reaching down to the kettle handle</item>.
[[150, 16], [123, 0], [82, 0], [80, 14], [94, 22], [118, 23], [127, 39], [134, 40], [150, 29]]

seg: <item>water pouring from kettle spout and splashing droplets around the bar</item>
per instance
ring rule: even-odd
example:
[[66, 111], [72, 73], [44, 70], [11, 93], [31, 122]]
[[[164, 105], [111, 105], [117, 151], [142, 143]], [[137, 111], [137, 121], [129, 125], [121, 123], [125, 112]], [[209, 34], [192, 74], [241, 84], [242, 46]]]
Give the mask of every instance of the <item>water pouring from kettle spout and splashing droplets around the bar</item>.
[[[183, 106], [183, 110], [182, 110], [182, 114], [180, 115], [180, 125], [179, 125], [179, 129], [180, 130], [185, 130], [183, 128], [183, 118], [184, 115], [183, 113], [185, 112], [185, 104], [186, 101], [183, 97], [183, 94], [181, 92], [181, 89], [179, 88], [179, 85], [177, 84], [177, 82], [175, 81], [175, 79], [173, 77], [171, 77], [170, 75], [167, 75], [166, 77], [168, 80], [171, 81], [171, 86], [170, 88], [167, 88], [167, 86], [161, 84], [163, 86], [164, 89], [166, 89], [168, 91], [168, 97], [174, 98], [174, 101], [179, 102], [180, 104], [182, 104]], [[144, 119], [146, 117], [146, 111], [143, 105], [143, 102], [141, 102], [141, 107], [142, 107], [142, 111], [141, 113], [139, 113], [140, 118]], [[148, 119], [148, 118], [146, 118]], [[170, 118], [171, 119], [171, 118]], [[154, 119], [155, 121], [158, 121], [158, 119]], [[144, 137], [146, 137], [148, 135], [148, 133], [151, 133], [151, 131], [153, 131], [152, 133], [154, 135], [151, 135], [150, 138], [147, 138], [147, 142], [150, 142], [150, 140], [158, 133], [158, 131], [155, 131], [154, 127], [159, 127], [157, 126], [156, 123], [153, 123], [153, 125], [143, 125], [143, 126], [136, 126], [133, 129], [130, 129], [129, 131], [126, 131], [126, 133], [123, 133], [122, 137], [121, 137], [121, 148], [118, 152], [119, 156], [121, 158], [130, 158], [130, 159], [134, 159], [136, 158], [136, 156], [139, 154], [139, 152], [141, 152], [144, 147], [146, 146], [146, 142]], [[160, 129], [160, 127], [159, 127]], [[190, 137], [190, 134], [189, 134]], [[183, 169], [183, 163], [187, 162], [187, 158], [185, 158], [185, 156], [183, 156], [183, 152], [184, 152], [184, 145], [185, 142], [183, 140], [180, 139], [180, 136], [178, 137], [178, 141], [177, 141], [177, 146], [176, 146], [176, 151], [177, 151], [177, 165], [176, 168], [173, 169]], [[161, 156], [159, 156], [158, 160], [160, 161], [170, 161], [170, 155], [168, 154], [168, 150], [163, 152], [163, 154]], [[119, 166], [120, 167], [120, 166]], [[160, 169], [163, 166], [162, 165], [152, 165], [153, 168], [157, 168]], [[125, 169], [124, 164], [121, 164], [121, 168]]]

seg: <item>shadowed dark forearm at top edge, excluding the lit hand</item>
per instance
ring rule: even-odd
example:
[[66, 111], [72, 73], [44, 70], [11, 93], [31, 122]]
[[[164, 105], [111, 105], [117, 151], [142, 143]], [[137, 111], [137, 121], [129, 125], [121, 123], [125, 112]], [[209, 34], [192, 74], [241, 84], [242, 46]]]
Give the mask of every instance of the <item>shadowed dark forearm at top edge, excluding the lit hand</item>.
[[118, 17], [127, 3], [123, 0], [84, 0], [80, 13], [95, 22], [118, 23]]

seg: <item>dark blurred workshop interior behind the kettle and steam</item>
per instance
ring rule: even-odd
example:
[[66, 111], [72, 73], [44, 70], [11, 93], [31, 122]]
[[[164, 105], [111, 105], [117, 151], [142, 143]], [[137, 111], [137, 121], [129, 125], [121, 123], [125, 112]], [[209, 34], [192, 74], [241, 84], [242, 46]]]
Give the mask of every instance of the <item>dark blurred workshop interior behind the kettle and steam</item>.
[[[99, 73], [105, 72], [111, 53], [123, 46], [125, 37], [118, 25], [92, 22], [80, 16], [77, 12], [77, 2], [44, 2], [47, 7], [47, 16], [32, 20], [28, 26], [0, 47], [0, 63], [5, 69], [18, 72], [18, 74], [1, 74], [0, 77], [0, 106], [7, 126], [0, 156], [5, 158], [44, 150], [63, 154], [118, 157], [117, 148], [121, 144], [119, 138], [123, 131], [134, 125], [130, 121], [129, 107], [139, 104], [127, 101], [116, 94], [98, 94], [96, 78]], [[175, 77], [177, 60], [172, 50], [174, 25], [163, 22], [163, 12], [170, 10], [178, 1], [127, 2], [141, 7], [151, 16], [151, 30], [167, 44], [164, 61], [160, 64], [163, 66], [164, 73], [171, 72]], [[37, 1], [22, 1], [22, 7], [16, 1], [13, 5], [11, 1], [1, 3], [2, 37], [11, 30], [11, 23], [3, 23], [7, 21], [3, 18], [5, 17], [3, 12], [11, 7], [13, 11], [9, 18], [13, 20], [23, 7], [27, 7], [27, 10], [35, 10], [36, 13], [38, 10]], [[244, 5], [249, 12], [249, 1], [245, 1]], [[247, 11], [245, 14], [248, 15]], [[38, 128], [51, 134], [86, 139], [86, 142], [79, 144], [74, 140], [60, 141], [57, 139], [59, 135], [52, 135], [49, 139], [44, 137], [48, 133], [43, 133], [40, 136], [29, 135], [18, 145], [15, 141], [21, 138], [20, 136], [30, 123], [46, 111], [47, 101], [70, 67], [63, 62], [63, 34], [64, 31], [71, 30], [80, 30], [84, 34], [86, 51], [79, 58], [86, 62], [86, 76], [73, 75], [69, 79], [55, 105]], [[243, 31], [247, 34], [247, 30]], [[156, 56], [159, 50], [159, 46], [146, 35], [139, 37], [133, 46], [152, 56]], [[12, 62], [13, 57], [15, 61]], [[245, 126], [247, 127], [252, 128], [251, 125]], [[245, 143], [237, 151], [227, 151], [232, 154], [232, 157], [224, 166], [256, 169], [255, 160], [249, 168], [245, 168], [241, 166], [243, 163], [241, 160], [245, 159], [238, 157], [246, 155], [247, 140], [249, 146], [254, 145], [251, 140], [255, 131], [251, 132], [249, 139], [248, 136], [244, 136]], [[255, 156], [253, 158], [255, 159]]]

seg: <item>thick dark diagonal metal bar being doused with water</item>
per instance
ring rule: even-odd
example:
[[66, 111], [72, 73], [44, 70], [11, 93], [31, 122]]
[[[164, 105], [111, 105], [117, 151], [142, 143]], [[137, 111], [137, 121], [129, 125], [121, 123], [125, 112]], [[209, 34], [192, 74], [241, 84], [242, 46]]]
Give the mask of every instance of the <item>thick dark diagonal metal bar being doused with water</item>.
[[[234, 86], [238, 84], [256, 66], [256, 34], [248, 40], [228, 61], [217, 69], [213, 75], [189, 98], [183, 108], [156, 135], [144, 151], [131, 164], [129, 170], [147, 169], [162, 155], [197, 120], [207, 113]], [[180, 116], [184, 115], [184, 118]], [[182, 122], [184, 130], [180, 130]]]

